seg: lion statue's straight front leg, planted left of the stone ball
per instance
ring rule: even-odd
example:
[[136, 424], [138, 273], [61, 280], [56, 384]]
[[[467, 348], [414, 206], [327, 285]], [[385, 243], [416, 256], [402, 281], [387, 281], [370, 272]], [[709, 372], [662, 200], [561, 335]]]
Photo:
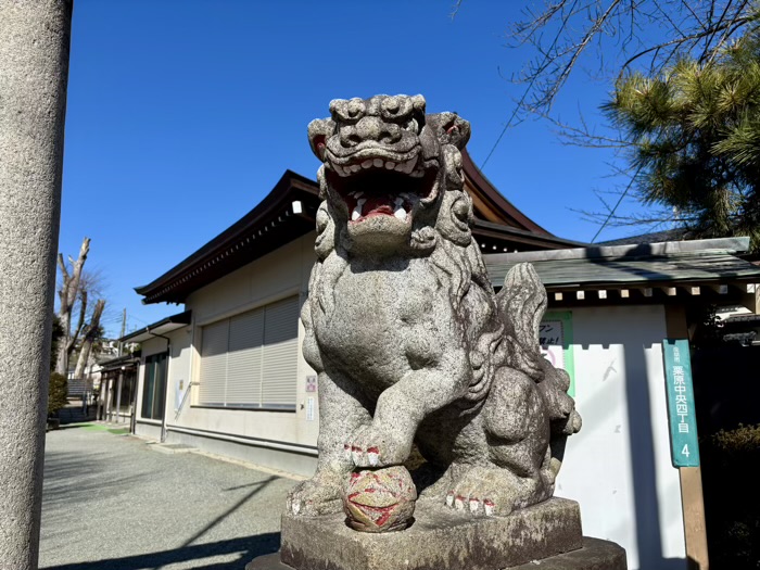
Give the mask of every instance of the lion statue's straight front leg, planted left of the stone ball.
[[288, 495], [287, 509], [293, 515], [317, 516], [339, 512], [341, 495], [354, 464], [345, 454], [346, 433], [371, 420], [355, 388], [342, 378], [319, 375], [319, 459], [312, 479]]

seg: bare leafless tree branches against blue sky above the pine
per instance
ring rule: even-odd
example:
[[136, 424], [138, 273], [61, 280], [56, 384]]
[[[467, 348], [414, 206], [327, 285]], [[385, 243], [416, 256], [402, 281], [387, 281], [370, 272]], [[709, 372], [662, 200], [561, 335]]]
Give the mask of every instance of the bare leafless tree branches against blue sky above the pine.
[[[535, 50], [535, 58], [516, 80], [530, 93], [518, 103], [520, 112], [539, 115], [550, 111], [594, 39], [603, 62], [604, 55], [612, 53], [610, 40], [623, 38], [617, 48], [622, 62], [618, 77], [639, 65], [656, 74], [681, 55], [711, 60], [758, 21], [751, 0], [554, 0], [543, 11], [527, 8], [523, 14], [523, 20], [510, 25], [508, 40], [512, 47], [530, 45]], [[635, 51], [629, 53], [630, 49]]]

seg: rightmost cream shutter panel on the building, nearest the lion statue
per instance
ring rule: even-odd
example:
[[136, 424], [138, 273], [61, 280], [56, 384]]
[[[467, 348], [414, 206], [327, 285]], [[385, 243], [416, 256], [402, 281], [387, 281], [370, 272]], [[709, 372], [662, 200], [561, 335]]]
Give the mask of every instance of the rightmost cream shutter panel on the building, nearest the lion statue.
[[265, 307], [262, 403], [295, 407], [299, 364], [299, 297]]

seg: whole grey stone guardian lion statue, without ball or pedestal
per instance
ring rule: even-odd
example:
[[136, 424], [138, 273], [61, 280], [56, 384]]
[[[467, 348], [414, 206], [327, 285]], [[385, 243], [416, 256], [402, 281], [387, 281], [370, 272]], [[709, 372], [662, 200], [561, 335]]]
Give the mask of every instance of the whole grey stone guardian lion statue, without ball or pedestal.
[[552, 496], [581, 426], [569, 377], [539, 351], [543, 284], [523, 264], [495, 295], [472, 239], [459, 153], [469, 123], [425, 104], [335, 100], [308, 126], [322, 162], [302, 312], [319, 461], [288, 498], [293, 515], [339, 511], [354, 470], [402, 465], [414, 444], [427, 460], [421, 498], [508, 515]]

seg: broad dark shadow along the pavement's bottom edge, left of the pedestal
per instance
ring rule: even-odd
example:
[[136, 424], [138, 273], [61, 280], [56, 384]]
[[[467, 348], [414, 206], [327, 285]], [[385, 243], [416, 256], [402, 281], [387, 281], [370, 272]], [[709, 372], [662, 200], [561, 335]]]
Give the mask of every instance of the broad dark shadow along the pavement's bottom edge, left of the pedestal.
[[[159, 570], [169, 565], [198, 560], [192, 568], [199, 570], [242, 570], [253, 558], [277, 552], [280, 547], [280, 533], [269, 532], [255, 536], [231, 539], [206, 544], [182, 546], [173, 550], [148, 553], [124, 558], [109, 558], [94, 562], [74, 562], [51, 566], [46, 570]], [[204, 558], [229, 556], [240, 553], [236, 560], [204, 563]]]

